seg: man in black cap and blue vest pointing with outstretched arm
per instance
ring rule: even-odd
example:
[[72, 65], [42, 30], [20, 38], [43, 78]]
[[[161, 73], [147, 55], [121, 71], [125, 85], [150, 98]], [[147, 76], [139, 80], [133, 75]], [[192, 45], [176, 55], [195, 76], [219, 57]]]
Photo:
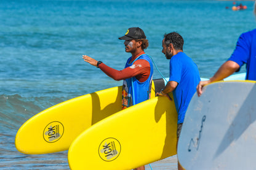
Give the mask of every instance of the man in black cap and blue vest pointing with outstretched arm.
[[[82, 58], [87, 63], [100, 68], [114, 80], [123, 80], [122, 109], [126, 109], [150, 99], [153, 64], [150, 57], [144, 52], [148, 47], [148, 40], [142, 29], [129, 28], [126, 34], [119, 39], [124, 40], [126, 52], [132, 54], [121, 71], [110, 68], [102, 61], [94, 60], [87, 55], [83, 55]], [[141, 166], [136, 169], [141, 170], [145, 167]]]

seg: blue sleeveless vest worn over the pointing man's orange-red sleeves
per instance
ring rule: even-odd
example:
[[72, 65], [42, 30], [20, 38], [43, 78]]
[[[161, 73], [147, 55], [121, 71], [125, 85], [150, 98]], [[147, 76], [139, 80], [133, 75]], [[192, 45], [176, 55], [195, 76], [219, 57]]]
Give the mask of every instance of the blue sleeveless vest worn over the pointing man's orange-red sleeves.
[[145, 82], [139, 82], [136, 77], [124, 80], [122, 85], [122, 109], [126, 109], [127, 107], [146, 101], [147, 99], [150, 99], [151, 96], [153, 63], [150, 57], [143, 54], [138, 56], [138, 58], [129, 64], [131, 59], [132, 57], [127, 60], [125, 68], [132, 66], [136, 60], [146, 60], [150, 63], [150, 76]]

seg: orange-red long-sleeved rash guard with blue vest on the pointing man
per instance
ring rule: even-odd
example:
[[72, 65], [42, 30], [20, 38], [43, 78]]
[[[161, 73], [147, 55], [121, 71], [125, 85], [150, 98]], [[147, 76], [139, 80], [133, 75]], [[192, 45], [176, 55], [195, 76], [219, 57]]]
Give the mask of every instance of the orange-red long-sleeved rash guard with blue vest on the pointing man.
[[100, 64], [99, 68], [114, 80], [124, 80], [122, 90], [122, 109], [150, 99], [151, 82], [153, 77], [153, 64], [145, 52], [130, 57], [126, 68], [116, 69]]

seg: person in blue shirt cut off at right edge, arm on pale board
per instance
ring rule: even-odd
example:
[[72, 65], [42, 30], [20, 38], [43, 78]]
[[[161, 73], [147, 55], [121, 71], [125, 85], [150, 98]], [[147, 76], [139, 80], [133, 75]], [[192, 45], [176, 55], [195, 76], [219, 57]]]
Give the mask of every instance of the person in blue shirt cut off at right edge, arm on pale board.
[[[256, 2], [254, 4], [254, 14], [256, 16]], [[241, 66], [246, 64], [246, 80], [256, 80], [256, 29], [242, 33], [236, 43], [236, 48], [218, 71], [207, 81], [199, 82], [198, 96], [202, 95], [202, 87], [230, 76], [239, 71]]]

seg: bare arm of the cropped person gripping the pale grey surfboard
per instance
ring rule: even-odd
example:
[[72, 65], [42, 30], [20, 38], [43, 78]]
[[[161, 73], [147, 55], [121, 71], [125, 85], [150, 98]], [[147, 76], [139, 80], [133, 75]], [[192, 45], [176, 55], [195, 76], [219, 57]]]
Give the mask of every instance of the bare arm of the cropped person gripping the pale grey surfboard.
[[214, 76], [210, 78], [210, 80], [199, 82], [198, 87], [196, 87], [196, 90], [198, 91], [198, 96], [202, 95], [202, 87], [209, 83], [225, 79], [226, 77], [237, 71], [239, 68], [240, 66], [238, 63], [234, 61], [226, 61], [224, 64], [222, 64], [222, 66], [218, 69]]

